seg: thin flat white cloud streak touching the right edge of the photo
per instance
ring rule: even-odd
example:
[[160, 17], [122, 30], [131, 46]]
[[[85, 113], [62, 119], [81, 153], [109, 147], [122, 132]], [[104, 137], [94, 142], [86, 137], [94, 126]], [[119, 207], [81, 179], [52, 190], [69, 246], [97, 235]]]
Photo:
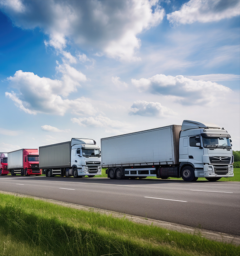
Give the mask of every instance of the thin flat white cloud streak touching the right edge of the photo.
[[240, 75], [236, 75], [236, 74], [205, 74], [205, 75], [199, 75], [199, 76], [186, 76], [186, 77], [193, 80], [203, 80], [203, 81], [211, 81], [211, 82], [240, 80]]

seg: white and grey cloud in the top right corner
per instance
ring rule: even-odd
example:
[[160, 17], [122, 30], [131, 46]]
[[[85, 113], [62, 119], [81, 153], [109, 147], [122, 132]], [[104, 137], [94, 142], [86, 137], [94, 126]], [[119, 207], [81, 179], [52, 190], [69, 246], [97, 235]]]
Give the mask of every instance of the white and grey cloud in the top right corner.
[[180, 10], [168, 14], [167, 19], [173, 25], [192, 24], [196, 21], [207, 23], [238, 16], [239, 8], [238, 0], [190, 0]]

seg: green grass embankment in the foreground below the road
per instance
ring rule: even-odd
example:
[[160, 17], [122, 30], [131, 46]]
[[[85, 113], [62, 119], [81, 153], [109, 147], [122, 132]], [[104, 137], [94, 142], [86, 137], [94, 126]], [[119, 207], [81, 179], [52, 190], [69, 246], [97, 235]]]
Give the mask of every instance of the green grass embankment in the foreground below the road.
[[209, 241], [55, 205], [0, 194], [0, 256], [236, 256], [240, 246]]

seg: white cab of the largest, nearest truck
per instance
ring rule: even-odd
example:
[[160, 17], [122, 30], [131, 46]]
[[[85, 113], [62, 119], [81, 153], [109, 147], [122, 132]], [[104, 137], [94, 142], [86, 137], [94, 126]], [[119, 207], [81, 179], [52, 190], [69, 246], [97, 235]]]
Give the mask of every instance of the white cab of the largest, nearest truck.
[[179, 138], [181, 177], [185, 181], [195, 181], [198, 177], [209, 181], [233, 177], [230, 137], [218, 125], [184, 120]]

